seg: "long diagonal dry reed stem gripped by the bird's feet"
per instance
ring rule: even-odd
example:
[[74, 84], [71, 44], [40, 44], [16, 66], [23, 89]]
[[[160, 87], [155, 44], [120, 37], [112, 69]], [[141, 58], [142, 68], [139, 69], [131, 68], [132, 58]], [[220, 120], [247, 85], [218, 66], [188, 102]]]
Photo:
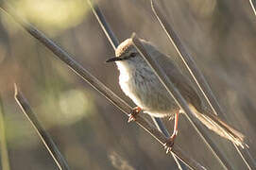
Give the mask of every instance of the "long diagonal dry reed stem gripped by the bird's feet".
[[[107, 99], [111, 101], [111, 103], [122, 110], [125, 114], [129, 114], [132, 110], [128, 104], [122, 100], [118, 95], [112, 93], [110, 89], [108, 89], [103, 83], [101, 83], [96, 77], [94, 77], [91, 73], [89, 73], [85, 68], [83, 68], [75, 59], [73, 59], [66, 51], [60, 48], [55, 42], [48, 39], [43, 32], [39, 31], [36, 27], [31, 26], [26, 23], [22, 18], [20, 18], [13, 9], [11, 9], [6, 3], [5, 6], [3, 3], [1, 7], [7, 14], [9, 14], [18, 24], [20, 24], [26, 31], [36, 38], [39, 42], [42, 42], [44, 46], [46, 46], [49, 50], [51, 50], [60, 60], [62, 60], [65, 64], [69, 66], [78, 76], [82, 77], [86, 82], [88, 82], [96, 91], [104, 95]], [[161, 144], [166, 142], [166, 137], [162, 135], [162, 133], [148, 123], [143, 117], [136, 117], [136, 123], [143, 127], [151, 136], [153, 136], [157, 141]], [[192, 169], [205, 169], [198, 162], [194, 161], [192, 158], [188, 156], [187, 153], [183, 152], [178, 145], [174, 145], [172, 149], [173, 153], [176, 154], [177, 157], [184, 163], [186, 163]]]

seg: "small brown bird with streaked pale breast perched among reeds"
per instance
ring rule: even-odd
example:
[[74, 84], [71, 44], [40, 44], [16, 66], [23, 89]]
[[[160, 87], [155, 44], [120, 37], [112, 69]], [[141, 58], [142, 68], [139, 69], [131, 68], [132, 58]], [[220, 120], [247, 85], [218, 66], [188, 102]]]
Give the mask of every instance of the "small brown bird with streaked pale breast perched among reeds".
[[[199, 122], [221, 137], [244, 148], [245, 136], [241, 132], [230, 127], [213, 113], [210, 114], [211, 116], [205, 114], [206, 107], [196, 93], [195, 87], [189, 78], [182, 74], [174, 61], [162, 54], [151, 42], [143, 39], [140, 41], [146, 52], [158, 62], [166, 76], [179, 90]], [[116, 63], [120, 72], [119, 85], [122, 91], [137, 105], [129, 115], [128, 122], [136, 120], [136, 115], [139, 112], [160, 118], [169, 116], [175, 119], [173, 133], [164, 144], [167, 148], [166, 152], [170, 151], [178, 134], [179, 113], [184, 111], [180, 110], [174, 98], [167, 93], [158, 76], [133, 45], [131, 38], [121, 42], [115, 49], [115, 57], [107, 59], [106, 62]]]

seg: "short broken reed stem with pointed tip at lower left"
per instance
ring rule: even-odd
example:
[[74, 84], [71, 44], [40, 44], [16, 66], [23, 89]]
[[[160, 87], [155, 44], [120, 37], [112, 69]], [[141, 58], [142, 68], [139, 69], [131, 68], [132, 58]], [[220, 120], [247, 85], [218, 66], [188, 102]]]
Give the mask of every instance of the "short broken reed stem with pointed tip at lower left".
[[23, 110], [26, 118], [30, 121], [32, 126], [37, 131], [38, 135], [40, 136], [41, 140], [43, 141], [44, 146], [49, 151], [50, 155], [52, 156], [53, 160], [56, 162], [57, 166], [60, 170], [70, 170], [67, 162], [65, 161], [64, 157], [60, 153], [58, 146], [53, 142], [51, 136], [44, 130], [41, 123], [38, 121], [35, 113], [31, 110], [28, 101], [26, 100], [23, 93], [20, 92], [16, 84], [14, 84], [14, 98], [16, 102], [19, 104], [21, 110]]

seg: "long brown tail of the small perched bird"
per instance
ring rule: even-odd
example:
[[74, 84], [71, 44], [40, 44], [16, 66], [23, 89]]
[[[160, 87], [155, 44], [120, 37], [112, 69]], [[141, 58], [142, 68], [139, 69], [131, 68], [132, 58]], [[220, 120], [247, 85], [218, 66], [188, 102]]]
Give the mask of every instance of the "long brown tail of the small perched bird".
[[213, 130], [218, 135], [230, 140], [232, 143], [240, 145], [242, 148], [247, 146], [247, 144], [245, 144], [244, 142], [245, 136], [239, 131], [224, 123], [217, 116], [213, 115], [212, 113], [209, 115], [202, 114], [197, 111], [193, 106], [190, 108], [195, 113], [196, 118], [203, 125]]

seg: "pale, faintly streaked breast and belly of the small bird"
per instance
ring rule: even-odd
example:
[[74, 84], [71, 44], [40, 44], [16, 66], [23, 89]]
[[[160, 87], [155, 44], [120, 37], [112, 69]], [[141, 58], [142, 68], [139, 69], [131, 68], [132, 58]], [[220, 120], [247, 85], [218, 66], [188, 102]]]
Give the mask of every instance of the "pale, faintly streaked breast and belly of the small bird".
[[179, 109], [151, 69], [135, 70], [134, 67], [128, 67], [122, 62], [117, 62], [117, 66], [120, 71], [121, 89], [145, 112], [162, 117], [172, 115], [174, 110]]

